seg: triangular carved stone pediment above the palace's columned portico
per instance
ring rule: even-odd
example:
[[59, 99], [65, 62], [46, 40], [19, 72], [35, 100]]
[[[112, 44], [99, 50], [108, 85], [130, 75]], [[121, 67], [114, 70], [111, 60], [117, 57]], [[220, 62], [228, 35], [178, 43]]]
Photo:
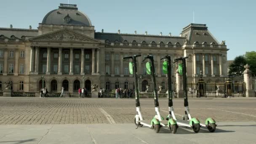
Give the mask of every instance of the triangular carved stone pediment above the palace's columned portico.
[[61, 29], [55, 32], [50, 32], [44, 35], [39, 35], [37, 37], [32, 37], [31, 41], [49, 41], [49, 42], [85, 42], [85, 43], [100, 43], [86, 35], [80, 34], [78, 32], [72, 31], [70, 29]]

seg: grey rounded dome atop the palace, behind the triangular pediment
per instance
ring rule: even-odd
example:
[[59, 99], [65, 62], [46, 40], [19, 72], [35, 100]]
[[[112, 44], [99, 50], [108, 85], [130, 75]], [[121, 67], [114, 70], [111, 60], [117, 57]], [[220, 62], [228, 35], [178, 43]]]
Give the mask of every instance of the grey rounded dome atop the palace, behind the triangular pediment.
[[63, 24], [91, 26], [91, 21], [84, 13], [78, 11], [77, 5], [60, 4], [59, 9], [50, 11], [43, 18], [42, 24]]

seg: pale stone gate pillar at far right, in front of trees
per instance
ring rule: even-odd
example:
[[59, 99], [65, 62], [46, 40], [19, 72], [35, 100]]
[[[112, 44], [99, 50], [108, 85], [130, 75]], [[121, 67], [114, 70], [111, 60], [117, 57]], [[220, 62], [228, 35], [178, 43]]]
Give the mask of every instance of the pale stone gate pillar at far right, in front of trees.
[[250, 66], [246, 64], [245, 71], [243, 72], [243, 79], [245, 82], [245, 96], [246, 97], [255, 97], [255, 92], [252, 88], [252, 75], [251, 70], [249, 70]]

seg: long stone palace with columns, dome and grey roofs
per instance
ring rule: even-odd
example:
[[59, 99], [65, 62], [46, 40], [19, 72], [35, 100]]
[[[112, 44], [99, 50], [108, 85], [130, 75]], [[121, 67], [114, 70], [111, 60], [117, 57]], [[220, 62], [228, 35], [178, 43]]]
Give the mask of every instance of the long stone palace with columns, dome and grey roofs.
[[[133, 89], [129, 61], [123, 57], [141, 54], [138, 58], [139, 91], [151, 87], [143, 58], [154, 56], [157, 85], [167, 89], [167, 78], [160, 60], [166, 54], [173, 59], [187, 59], [188, 83], [224, 82], [227, 77], [227, 46], [219, 43], [206, 24], [189, 24], [179, 36], [95, 32], [88, 16], [77, 5], [60, 4], [50, 11], [37, 29], [0, 28], [0, 91], [5, 82], [13, 82], [13, 91], [39, 92], [44, 85], [50, 92], [61, 87], [69, 93], [91, 85], [112, 90]], [[172, 66], [176, 87], [176, 64]], [[43, 76], [43, 77], [42, 77]], [[44, 79], [44, 82], [43, 82]]]

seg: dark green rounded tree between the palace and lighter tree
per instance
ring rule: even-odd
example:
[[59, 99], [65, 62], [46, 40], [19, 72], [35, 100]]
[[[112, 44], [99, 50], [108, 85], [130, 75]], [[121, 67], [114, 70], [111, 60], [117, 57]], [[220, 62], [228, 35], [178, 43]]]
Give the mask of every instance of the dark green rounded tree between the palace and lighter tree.
[[229, 65], [229, 75], [243, 75], [245, 64], [247, 62], [244, 56], [236, 56], [232, 64]]

